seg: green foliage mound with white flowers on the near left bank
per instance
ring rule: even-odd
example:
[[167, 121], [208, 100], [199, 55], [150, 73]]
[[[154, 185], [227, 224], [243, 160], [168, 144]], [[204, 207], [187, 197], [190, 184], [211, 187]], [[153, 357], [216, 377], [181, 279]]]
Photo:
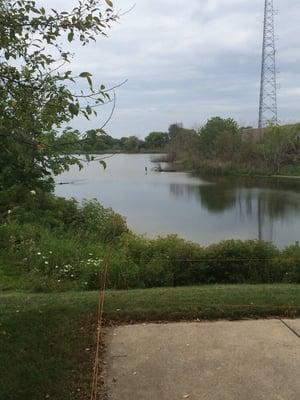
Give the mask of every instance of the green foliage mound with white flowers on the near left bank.
[[125, 220], [96, 201], [78, 206], [44, 196], [33, 208], [11, 210], [0, 225], [0, 276], [22, 276], [21, 287], [32, 290], [98, 287], [105, 243], [126, 231]]

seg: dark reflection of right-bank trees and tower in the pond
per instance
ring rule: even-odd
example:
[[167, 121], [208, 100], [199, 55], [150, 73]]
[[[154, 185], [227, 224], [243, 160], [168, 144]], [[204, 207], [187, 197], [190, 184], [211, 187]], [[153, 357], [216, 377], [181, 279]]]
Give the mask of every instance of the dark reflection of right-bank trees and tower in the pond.
[[275, 221], [300, 217], [300, 185], [292, 179], [201, 178], [201, 185], [170, 184], [170, 194], [194, 197], [213, 214], [234, 211], [240, 223], [256, 220], [259, 239], [273, 241]]

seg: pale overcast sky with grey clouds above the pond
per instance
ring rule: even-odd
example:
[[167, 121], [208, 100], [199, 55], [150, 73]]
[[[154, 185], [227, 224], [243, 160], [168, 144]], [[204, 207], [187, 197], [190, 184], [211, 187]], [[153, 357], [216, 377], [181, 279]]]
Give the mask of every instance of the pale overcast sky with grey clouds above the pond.
[[[39, 0], [64, 9], [76, 0]], [[135, 8], [86, 48], [76, 46], [73, 67], [90, 71], [117, 90], [117, 108], [107, 132], [144, 137], [169, 124], [201, 125], [211, 116], [256, 125], [262, 44], [263, 0], [114, 0]], [[279, 117], [300, 120], [300, 1], [274, 0]], [[73, 47], [72, 47], [73, 49]], [[101, 125], [109, 109], [80, 129]]]

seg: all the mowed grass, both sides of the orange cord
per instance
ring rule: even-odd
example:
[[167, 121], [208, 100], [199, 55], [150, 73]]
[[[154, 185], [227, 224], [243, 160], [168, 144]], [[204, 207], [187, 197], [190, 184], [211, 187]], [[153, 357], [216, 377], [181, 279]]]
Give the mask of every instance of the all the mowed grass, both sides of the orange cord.
[[[0, 399], [89, 398], [97, 292], [0, 294]], [[111, 321], [300, 316], [299, 285], [107, 291]]]

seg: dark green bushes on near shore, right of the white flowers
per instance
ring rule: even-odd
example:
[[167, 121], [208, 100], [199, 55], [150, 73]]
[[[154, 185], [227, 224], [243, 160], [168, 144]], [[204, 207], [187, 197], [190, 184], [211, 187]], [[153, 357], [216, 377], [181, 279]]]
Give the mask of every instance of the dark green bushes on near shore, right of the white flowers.
[[123, 235], [118, 246], [138, 266], [139, 287], [299, 279], [299, 246], [280, 251], [268, 242], [228, 240], [203, 248], [174, 235], [148, 240], [133, 234]]

